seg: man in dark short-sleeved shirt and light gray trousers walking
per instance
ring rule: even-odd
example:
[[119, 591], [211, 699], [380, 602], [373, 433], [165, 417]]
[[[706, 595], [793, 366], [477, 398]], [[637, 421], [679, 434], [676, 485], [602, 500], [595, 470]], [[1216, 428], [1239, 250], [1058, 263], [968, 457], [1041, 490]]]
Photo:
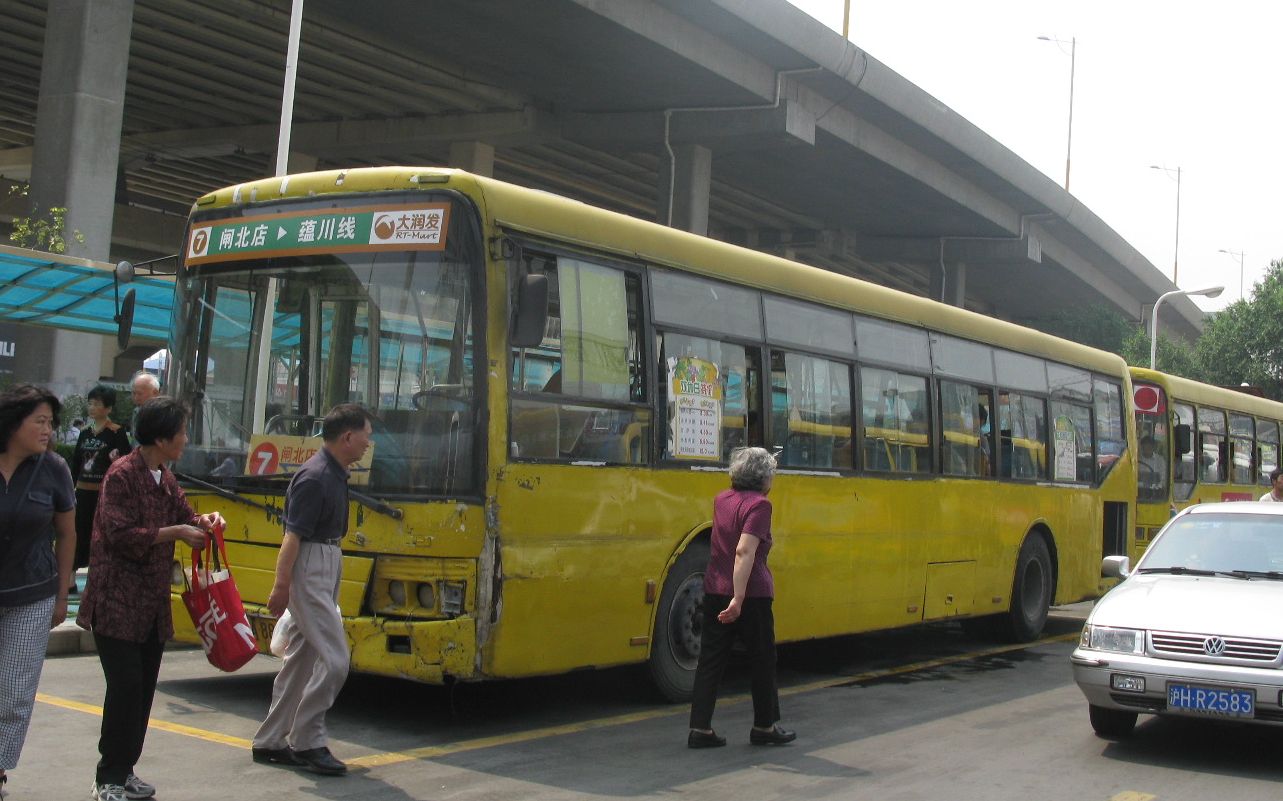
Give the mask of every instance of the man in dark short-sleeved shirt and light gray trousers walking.
[[295, 630], [272, 684], [267, 719], [254, 734], [255, 762], [298, 765], [323, 775], [348, 771], [326, 745], [325, 715], [352, 660], [336, 608], [339, 542], [348, 533], [348, 466], [370, 447], [370, 420], [355, 403], [334, 407], [321, 426], [325, 443], [285, 492], [285, 534], [267, 608], [277, 617], [289, 608]]

